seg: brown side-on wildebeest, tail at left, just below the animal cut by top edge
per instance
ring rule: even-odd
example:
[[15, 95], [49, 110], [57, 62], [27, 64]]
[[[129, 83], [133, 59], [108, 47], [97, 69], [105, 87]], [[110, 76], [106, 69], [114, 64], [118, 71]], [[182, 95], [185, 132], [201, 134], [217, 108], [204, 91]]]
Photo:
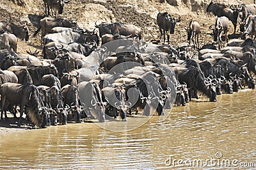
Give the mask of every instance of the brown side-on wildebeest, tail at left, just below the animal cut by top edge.
[[52, 27], [76, 27], [77, 22], [70, 21], [66, 19], [52, 19], [49, 17], [45, 17], [44, 19], [40, 20], [40, 24], [38, 29], [35, 31], [33, 36], [36, 36], [36, 34], [42, 29], [42, 35], [41, 35], [41, 43], [43, 40], [43, 37], [47, 35], [48, 33], [51, 33]]

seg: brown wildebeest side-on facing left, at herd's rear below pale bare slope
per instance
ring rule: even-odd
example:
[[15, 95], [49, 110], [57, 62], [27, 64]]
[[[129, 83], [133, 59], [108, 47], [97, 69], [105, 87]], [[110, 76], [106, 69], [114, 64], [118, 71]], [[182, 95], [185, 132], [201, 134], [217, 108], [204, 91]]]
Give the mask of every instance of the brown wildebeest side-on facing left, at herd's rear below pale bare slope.
[[100, 37], [106, 34], [111, 35], [124, 35], [124, 36], [138, 36], [141, 39], [141, 29], [132, 24], [123, 24], [122, 22], [106, 23], [101, 24], [95, 22], [95, 27], [99, 28]]

